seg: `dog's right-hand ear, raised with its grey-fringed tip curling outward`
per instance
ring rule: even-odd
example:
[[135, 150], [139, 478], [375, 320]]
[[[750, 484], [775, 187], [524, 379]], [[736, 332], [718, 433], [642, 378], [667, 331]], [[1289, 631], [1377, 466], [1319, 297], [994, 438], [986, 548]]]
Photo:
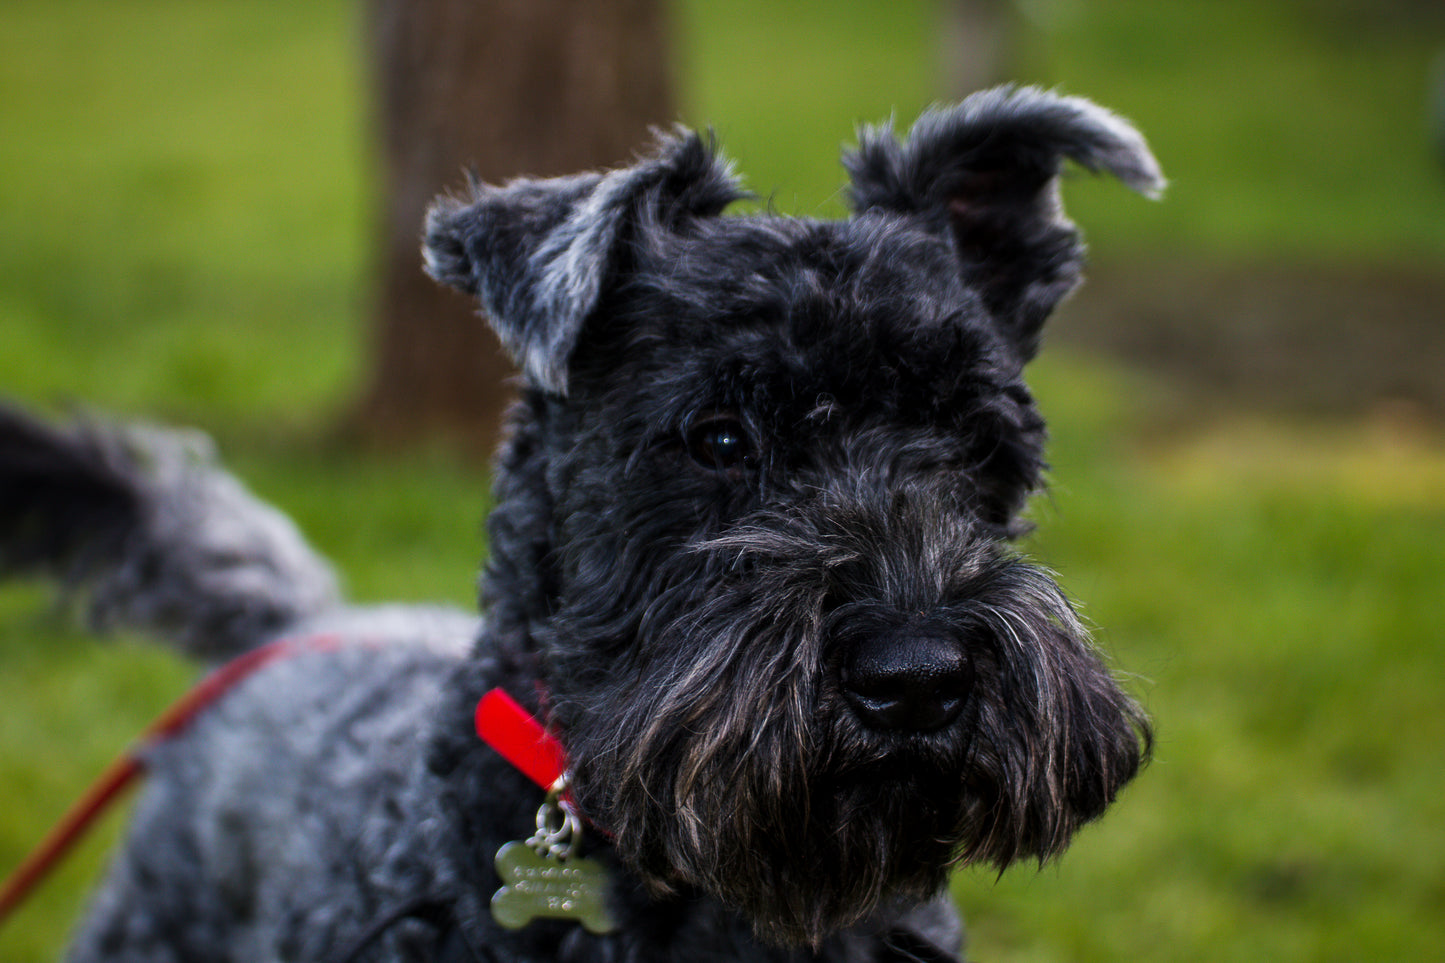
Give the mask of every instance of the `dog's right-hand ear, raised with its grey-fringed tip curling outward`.
[[1084, 244], [1059, 202], [1064, 159], [1157, 197], [1163, 175], [1121, 117], [1078, 97], [1000, 87], [926, 111], [902, 143], [864, 129], [844, 158], [855, 213], [890, 210], [948, 231], [964, 281], [1023, 359], [1078, 283]]

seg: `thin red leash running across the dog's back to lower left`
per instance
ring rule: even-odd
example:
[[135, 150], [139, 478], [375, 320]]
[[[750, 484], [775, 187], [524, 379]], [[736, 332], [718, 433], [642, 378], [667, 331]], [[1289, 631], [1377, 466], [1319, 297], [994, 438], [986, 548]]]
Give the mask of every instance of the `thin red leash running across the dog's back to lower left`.
[[81, 836], [114, 803], [120, 794], [144, 771], [143, 752], [158, 743], [172, 739], [189, 726], [197, 716], [218, 701], [225, 693], [264, 665], [279, 658], [305, 651], [327, 651], [341, 646], [334, 635], [311, 635], [277, 639], [259, 649], [244, 652], [207, 675], [182, 696], [171, 709], [160, 714], [144, 730], [136, 746], [121, 753], [95, 782], [85, 791], [61, 821], [46, 833], [25, 862], [0, 885], [0, 925], [10, 917], [26, 896], [61, 862]]

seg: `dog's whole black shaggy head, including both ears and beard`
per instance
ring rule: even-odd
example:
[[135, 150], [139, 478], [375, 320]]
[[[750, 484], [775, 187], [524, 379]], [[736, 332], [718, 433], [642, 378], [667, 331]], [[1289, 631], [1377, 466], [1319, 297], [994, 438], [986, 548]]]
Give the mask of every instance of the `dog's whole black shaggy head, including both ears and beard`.
[[655, 891], [816, 941], [1056, 855], [1137, 771], [1143, 714], [1007, 547], [1043, 466], [1022, 370], [1081, 260], [1062, 158], [1160, 182], [1114, 116], [996, 91], [867, 134], [845, 221], [720, 217], [692, 136], [434, 210], [429, 269], [529, 382], [493, 593]]

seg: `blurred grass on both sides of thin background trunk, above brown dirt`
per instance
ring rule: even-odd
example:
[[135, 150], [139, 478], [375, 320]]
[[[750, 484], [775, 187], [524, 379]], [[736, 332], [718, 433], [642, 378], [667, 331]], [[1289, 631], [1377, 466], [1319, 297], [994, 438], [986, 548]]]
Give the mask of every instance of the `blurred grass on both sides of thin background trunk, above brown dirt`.
[[[933, 4], [681, 6], [686, 116], [718, 124], [780, 210], [841, 211], [837, 147], [855, 124], [892, 114], [906, 127], [941, 98]], [[1100, 256], [1445, 257], [1445, 169], [1426, 123], [1441, 29], [1355, 27], [1324, 1], [1020, 6], [1053, 14], [1020, 33], [1013, 78], [1130, 117], [1170, 178], [1147, 211], [1113, 184], [1071, 187]]]

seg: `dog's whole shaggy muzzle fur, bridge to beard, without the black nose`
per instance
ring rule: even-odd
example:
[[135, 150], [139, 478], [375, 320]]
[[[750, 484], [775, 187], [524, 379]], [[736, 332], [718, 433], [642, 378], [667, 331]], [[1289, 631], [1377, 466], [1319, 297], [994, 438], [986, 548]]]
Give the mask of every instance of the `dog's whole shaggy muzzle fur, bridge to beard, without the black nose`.
[[[646, 604], [608, 613], [627, 642], [605, 668], [601, 620], [552, 623], [587, 816], [655, 895], [708, 894], [775, 943], [926, 898], [959, 863], [1058, 855], [1147, 755], [1143, 713], [1046, 573], [936, 500], [848, 505], [760, 515], [675, 557]], [[977, 674], [958, 719], [915, 733], [854, 716], [835, 641], [860, 609], [957, 633]]]

